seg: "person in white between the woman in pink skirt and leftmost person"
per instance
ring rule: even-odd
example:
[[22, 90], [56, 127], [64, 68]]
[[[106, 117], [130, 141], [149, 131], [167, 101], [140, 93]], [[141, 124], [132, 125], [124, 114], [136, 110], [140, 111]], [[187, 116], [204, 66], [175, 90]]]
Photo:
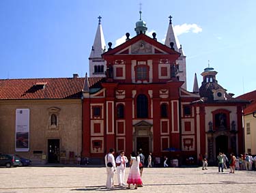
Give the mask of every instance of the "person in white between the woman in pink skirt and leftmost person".
[[127, 162], [128, 159], [126, 158], [126, 155], [124, 155], [124, 151], [120, 151], [115, 159], [115, 164], [117, 166], [117, 181], [120, 186], [126, 185], [126, 183], [124, 183], [124, 176], [126, 175], [125, 170]]

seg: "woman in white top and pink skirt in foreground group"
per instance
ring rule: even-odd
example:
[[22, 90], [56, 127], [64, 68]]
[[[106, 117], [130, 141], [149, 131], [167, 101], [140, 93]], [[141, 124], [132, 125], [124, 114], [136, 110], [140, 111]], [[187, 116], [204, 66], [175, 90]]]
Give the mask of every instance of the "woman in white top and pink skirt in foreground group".
[[137, 189], [138, 185], [142, 186], [141, 175], [139, 173], [140, 162], [141, 160], [139, 156], [134, 151], [132, 151], [130, 155], [130, 172], [127, 179], [128, 189], [130, 189], [130, 184], [135, 184], [134, 189]]

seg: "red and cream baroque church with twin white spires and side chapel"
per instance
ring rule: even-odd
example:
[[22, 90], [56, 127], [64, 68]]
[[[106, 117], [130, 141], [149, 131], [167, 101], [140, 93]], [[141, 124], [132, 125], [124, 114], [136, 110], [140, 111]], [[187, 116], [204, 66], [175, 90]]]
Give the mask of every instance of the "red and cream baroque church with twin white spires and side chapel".
[[[141, 14], [141, 12], [140, 12]], [[243, 151], [242, 108], [205, 68], [199, 89], [186, 91], [186, 56], [177, 44], [171, 16], [165, 44], [145, 35], [145, 21], [136, 23], [134, 38], [106, 51], [99, 20], [89, 58], [90, 75], [98, 58], [105, 61], [104, 80], [97, 88], [83, 89], [83, 156], [102, 157], [109, 148], [127, 153], [143, 149], [145, 155], [171, 155], [185, 162], [208, 153]], [[104, 38], [103, 38], [104, 39]], [[97, 42], [97, 43], [96, 43]], [[180, 46], [180, 48], [178, 48]], [[94, 60], [92, 55], [98, 55]], [[102, 65], [102, 63], [99, 63]], [[171, 153], [169, 153], [171, 151]], [[174, 152], [173, 152], [174, 151]]]

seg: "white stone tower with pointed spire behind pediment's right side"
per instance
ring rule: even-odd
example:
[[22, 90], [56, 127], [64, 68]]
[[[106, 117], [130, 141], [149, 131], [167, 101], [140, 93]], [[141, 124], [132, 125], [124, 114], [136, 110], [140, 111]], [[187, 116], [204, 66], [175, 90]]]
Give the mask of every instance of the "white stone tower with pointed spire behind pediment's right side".
[[182, 50], [182, 45], [180, 45], [179, 40], [177, 39], [177, 35], [175, 35], [173, 30], [173, 24], [171, 21], [172, 16], [169, 16], [169, 26], [167, 30], [167, 35], [165, 39], [165, 46], [173, 47], [173, 49], [180, 53], [180, 57], [176, 60], [179, 70], [177, 72], [177, 78], [180, 81], [184, 81], [182, 88], [186, 89], [186, 55], [184, 55], [184, 51]]

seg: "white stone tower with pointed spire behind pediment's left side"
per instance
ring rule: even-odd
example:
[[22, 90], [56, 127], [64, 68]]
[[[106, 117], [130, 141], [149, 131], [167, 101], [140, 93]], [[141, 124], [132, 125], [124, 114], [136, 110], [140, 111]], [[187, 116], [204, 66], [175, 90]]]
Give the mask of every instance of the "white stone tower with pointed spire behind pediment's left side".
[[89, 56], [89, 76], [100, 76], [104, 77], [106, 65], [104, 59], [101, 55], [106, 51], [106, 43], [104, 40], [102, 25], [101, 25], [101, 16], [98, 16], [98, 28], [94, 38], [94, 45], [91, 47], [91, 54]]

